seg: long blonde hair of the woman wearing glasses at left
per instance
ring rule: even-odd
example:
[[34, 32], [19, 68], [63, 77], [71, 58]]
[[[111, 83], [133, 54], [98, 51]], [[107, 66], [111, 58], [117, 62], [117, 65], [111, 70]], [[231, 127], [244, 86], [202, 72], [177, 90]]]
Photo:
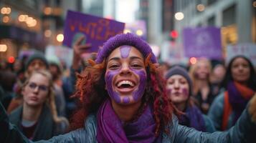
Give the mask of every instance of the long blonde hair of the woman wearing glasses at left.
[[54, 87], [53, 87], [53, 81], [52, 81], [52, 74], [50, 74], [49, 71], [47, 71], [45, 69], [33, 71], [32, 74], [30, 74], [29, 77], [27, 78], [26, 82], [24, 82], [24, 84], [22, 85], [22, 89], [29, 83], [29, 79], [31, 79], [31, 77], [34, 74], [41, 74], [42, 76], [47, 77], [47, 79], [49, 79], [49, 92], [47, 95], [48, 98], [46, 100], [46, 104], [50, 108], [54, 122], [56, 122], [56, 123], [65, 122], [68, 125], [69, 122], [67, 121], [67, 119], [65, 117], [58, 117], [58, 115], [57, 115], [57, 109], [56, 109], [55, 98], [54, 98]]

